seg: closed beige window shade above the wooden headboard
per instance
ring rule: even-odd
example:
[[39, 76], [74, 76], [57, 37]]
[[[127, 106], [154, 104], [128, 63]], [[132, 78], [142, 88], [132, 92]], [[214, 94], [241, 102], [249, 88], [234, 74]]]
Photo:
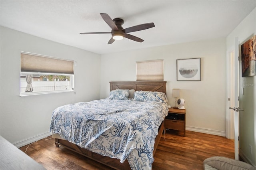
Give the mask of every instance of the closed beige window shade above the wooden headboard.
[[136, 81], [163, 81], [164, 60], [137, 61]]

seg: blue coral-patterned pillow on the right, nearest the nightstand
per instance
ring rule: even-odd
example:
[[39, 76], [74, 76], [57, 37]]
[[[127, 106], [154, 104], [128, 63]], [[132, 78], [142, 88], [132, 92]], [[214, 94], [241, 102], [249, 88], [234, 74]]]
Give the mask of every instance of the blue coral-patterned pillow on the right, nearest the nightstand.
[[166, 102], [164, 96], [157, 91], [136, 91], [134, 95], [135, 101], [158, 101]]

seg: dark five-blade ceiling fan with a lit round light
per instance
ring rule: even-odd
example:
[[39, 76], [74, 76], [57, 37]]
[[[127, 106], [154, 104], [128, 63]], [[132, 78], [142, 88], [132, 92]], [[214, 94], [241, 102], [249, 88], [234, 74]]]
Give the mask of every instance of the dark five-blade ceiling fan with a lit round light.
[[138, 38], [136, 36], [132, 36], [130, 34], [127, 34], [129, 32], [136, 32], [140, 30], [146, 30], [148, 28], [154, 27], [154, 23], [146, 23], [146, 24], [140, 24], [137, 26], [132, 26], [129, 28], [122, 28], [122, 24], [124, 24], [124, 20], [121, 18], [115, 18], [112, 20], [108, 14], [100, 13], [103, 20], [110, 26], [112, 29], [111, 32], [82, 32], [80, 34], [112, 34], [112, 37], [108, 41], [108, 44], [113, 43], [115, 40], [122, 40], [124, 38], [128, 38], [130, 40], [136, 41], [136, 42], [144, 42], [141, 38]]

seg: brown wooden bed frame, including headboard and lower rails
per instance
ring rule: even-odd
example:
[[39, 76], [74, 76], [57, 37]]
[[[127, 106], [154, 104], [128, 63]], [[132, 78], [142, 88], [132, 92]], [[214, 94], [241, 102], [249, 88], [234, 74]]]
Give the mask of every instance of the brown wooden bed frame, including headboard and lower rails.
[[[115, 89], [135, 89], [142, 91], [159, 91], [166, 93], [166, 81], [111, 81], [110, 82], [110, 91]], [[158, 135], [155, 138], [154, 151], [153, 156], [156, 152], [156, 148], [162, 136], [162, 132], [164, 130], [164, 123], [160, 125], [158, 128]], [[55, 138], [55, 145], [59, 147], [60, 145], [68, 148], [78, 154], [86, 156], [92, 160], [100, 162], [110, 168], [116, 170], [127, 170], [130, 169], [130, 165], [127, 160], [124, 163], [120, 163], [119, 159], [110, 158], [108, 156], [102, 156], [100, 154], [96, 154], [87, 149], [81, 148], [76, 144], [70, 143], [67, 140]]]

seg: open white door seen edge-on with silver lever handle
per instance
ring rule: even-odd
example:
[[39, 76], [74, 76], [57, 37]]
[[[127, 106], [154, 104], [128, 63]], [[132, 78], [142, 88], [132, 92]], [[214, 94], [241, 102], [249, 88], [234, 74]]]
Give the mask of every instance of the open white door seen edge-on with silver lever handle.
[[[232, 60], [232, 65], [234, 66], [233, 73], [234, 73], [234, 105], [229, 107], [229, 109], [234, 110], [234, 143], [235, 143], [235, 159], [238, 160], [239, 154], [239, 111], [243, 109], [239, 108], [239, 58], [238, 58], [238, 38], [235, 38], [235, 50], [234, 50], [234, 59]], [[230, 103], [232, 104], [232, 103]]]

